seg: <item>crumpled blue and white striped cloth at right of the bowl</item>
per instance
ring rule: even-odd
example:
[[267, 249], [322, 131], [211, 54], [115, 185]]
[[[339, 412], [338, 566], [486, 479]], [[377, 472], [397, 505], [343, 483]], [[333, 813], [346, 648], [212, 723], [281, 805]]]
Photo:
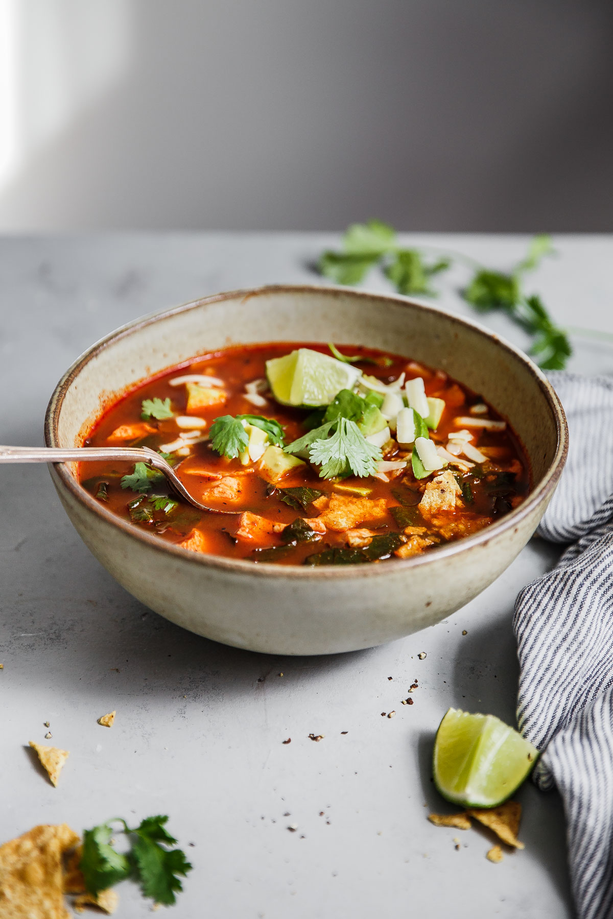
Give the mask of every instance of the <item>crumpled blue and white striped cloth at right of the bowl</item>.
[[562, 795], [577, 913], [613, 919], [613, 380], [550, 380], [570, 450], [539, 535], [573, 545], [517, 596], [517, 720]]

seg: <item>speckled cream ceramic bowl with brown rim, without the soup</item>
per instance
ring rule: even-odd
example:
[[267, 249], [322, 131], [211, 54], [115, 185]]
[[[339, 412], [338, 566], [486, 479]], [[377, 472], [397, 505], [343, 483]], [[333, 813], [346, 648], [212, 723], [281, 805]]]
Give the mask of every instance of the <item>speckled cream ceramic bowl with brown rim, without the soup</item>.
[[[80, 446], [96, 418], [141, 380], [238, 343], [335, 341], [424, 361], [482, 393], [512, 425], [533, 476], [499, 523], [423, 556], [330, 568], [255, 565], [180, 549], [114, 516], [51, 467], [66, 513], [119, 584], [185, 629], [239, 648], [327, 654], [433, 625], [502, 573], [547, 507], [566, 458], [562, 405], [539, 369], [475, 323], [402, 298], [274, 286], [205, 297], [124, 326], [79, 357], [51, 396], [49, 447]], [[155, 572], [155, 577], [149, 575]]]

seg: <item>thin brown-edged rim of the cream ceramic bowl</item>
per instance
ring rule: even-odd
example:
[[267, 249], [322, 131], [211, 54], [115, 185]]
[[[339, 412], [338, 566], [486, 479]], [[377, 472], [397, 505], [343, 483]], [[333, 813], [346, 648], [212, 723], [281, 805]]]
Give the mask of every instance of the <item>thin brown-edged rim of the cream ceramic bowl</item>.
[[539, 389], [543, 393], [547, 403], [549, 403], [551, 413], [555, 420], [558, 435], [556, 452], [554, 458], [551, 461], [551, 465], [545, 472], [545, 475], [535, 486], [534, 490], [528, 494], [526, 500], [516, 509], [506, 514], [499, 522], [493, 523], [489, 527], [486, 527], [471, 536], [464, 537], [463, 539], [458, 539], [454, 542], [449, 542], [446, 545], [437, 548], [435, 551], [426, 552], [424, 555], [413, 556], [409, 559], [396, 559], [393, 561], [392, 565], [365, 564], [339, 566], [330, 565], [320, 567], [308, 565], [277, 565], [274, 562], [259, 562], [258, 564], [255, 564], [254, 562], [250, 562], [244, 559], [232, 559], [227, 556], [210, 555], [204, 552], [193, 552], [187, 549], [182, 549], [173, 543], [165, 542], [164, 539], [158, 539], [153, 535], [153, 533], [148, 533], [144, 530], [141, 530], [140, 528], [134, 527], [128, 521], [122, 520], [119, 516], [113, 514], [112, 511], [109, 511], [107, 508], [101, 506], [93, 495], [85, 491], [85, 488], [83, 488], [78, 482], [74, 480], [65, 463], [53, 463], [52, 465], [54, 467], [54, 471], [62, 484], [81, 505], [85, 506], [87, 510], [92, 511], [102, 520], [112, 524], [114, 527], [119, 528], [123, 533], [131, 537], [131, 539], [136, 539], [155, 551], [163, 552], [171, 556], [176, 556], [178, 559], [182, 559], [184, 562], [190, 562], [194, 565], [204, 565], [206, 568], [215, 569], [220, 573], [227, 572], [234, 573], [236, 575], [249, 574], [252, 577], [289, 578], [306, 581], [322, 579], [346, 581], [354, 580], [356, 577], [381, 577], [385, 576], [386, 573], [400, 573], [402, 571], [421, 567], [422, 565], [442, 562], [444, 559], [455, 556], [460, 552], [471, 550], [477, 546], [485, 546], [494, 537], [505, 533], [505, 531], [511, 528], [517, 527], [520, 521], [529, 516], [535, 507], [539, 505], [549, 494], [551, 494], [552, 490], [555, 488], [560, 479], [562, 469], [568, 455], [568, 425], [566, 423], [566, 416], [562, 408], [562, 403], [560, 402], [557, 393], [551, 386], [549, 380], [547, 380], [545, 374], [532, 360], [530, 360], [526, 354], [524, 354], [510, 342], [507, 342], [505, 338], [502, 338], [500, 335], [497, 335], [490, 329], [482, 326], [481, 323], [476, 323], [471, 319], [465, 318], [464, 316], [458, 316], [455, 313], [447, 312], [441, 307], [434, 306], [433, 304], [415, 301], [408, 297], [393, 296], [390, 294], [382, 294], [369, 290], [357, 290], [353, 288], [347, 289], [335, 285], [267, 284], [255, 288], [226, 290], [221, 291], [220, 293], [210, 294], [206, 297], [201, 297], [198, 300], [187, 301], [169, 309], [147, 313], [144, 316], [132, 320], [130, 323], [120, 325], [119, 328], [100, 338], [92, 346], [87, 348], [82, 355], [77, 357], [71, 367], [67, 369], [63, 374], [62, 379], [57, 383], [51, 394], [51, 399], [45, 413], [45, 445], [47, 447], [59, 446], [58, 425], [60, 414], [62, 412], [64, 397], [71, 383], [76, 377], [78, 377], [81, 370], [90, 360], [96, 357], [96, 355], [98, 355], [108, 346], [111, 346], [115, 342], [119, 341], [119, 339], [128, 335], [133, 335], [148, 325], [152, 325], [153, 323], [177, 315], [178, 313], [199, 309], [199, 307], [208, 306], [212, 303], [237, 299], [241, 299], [243, 302], [246, 302], [255, 297], [266, 296], [269, 294], [310, 293], [325, 294], [331, 297], [348, 296], [349, 298], [355, 298], [356, 300], [360, 301], [377, 301], [378, 304], [380, 304], [380, 301], [387, 301], [395, 306], [410, 306], [417, 308], [418, 310], [436, 313], [437, 315], [444, 316], [448, 322], [456, 323], [462, 326], [468, 326], [472, 330], [479, 332], [481, 335], [484, 335], [490, 340], [493, 340], [497, 346], [503, 348], [513, 357], [518, 359], [522, 364], [524, 364], [530, 375], [538, 384]]

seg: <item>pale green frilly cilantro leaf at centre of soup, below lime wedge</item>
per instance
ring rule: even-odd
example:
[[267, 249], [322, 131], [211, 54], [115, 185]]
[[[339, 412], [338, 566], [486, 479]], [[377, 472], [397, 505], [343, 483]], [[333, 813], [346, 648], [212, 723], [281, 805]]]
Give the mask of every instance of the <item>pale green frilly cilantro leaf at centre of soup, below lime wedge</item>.
[[309, 451], [311, 462], [322, 467], [319, 472], [322, 479], [334, 479], [348, 470], [359, 477], [373, 475], [381, 457], [380, 448], [369, 443], [358, 425], [342, 417], [332, 437], [312, 441]]

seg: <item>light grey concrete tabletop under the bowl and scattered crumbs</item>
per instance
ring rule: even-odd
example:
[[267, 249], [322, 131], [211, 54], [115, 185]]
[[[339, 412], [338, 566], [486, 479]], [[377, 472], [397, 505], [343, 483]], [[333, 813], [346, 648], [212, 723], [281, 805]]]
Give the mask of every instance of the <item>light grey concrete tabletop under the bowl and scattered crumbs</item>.
[[[524, 249], [517, 237], [416, 240], [500, 267]], [[333, 241], [323, 234], [0, 240], [0, 441], [40, 443], [56, 380], [119, 323], [220, 289], [317, 282], [309, 265]], [[613, 332], [613, 240], [556, 242], [560, 255], [534, 276], [534, 289], [561, 322]], [[440, 301], [468, 312], [455, 292], [462, 278], [458, 269], [441, 280]], [[377, 275], [368, 286], [387, 289]], [[521, 344], [504, 317], [486, 319]], [[575, 344], [573, 369], [611, 371], [611, 346]], [[514, 599], [557, 550], [533, 540], [468, 607], [403, 641], [279, 658], [191, 635], [132, 599], [77, 538], [44, 467], [0, 469], [0, 508], [0, 841], [35, 823], [81, 830], [116, 814], [130, 821], [168, 813], [194, 865], [176, 907], [185, 919], [572, 915], [555, 793], [520, 791], [526, 849], [500, 865], [485, 860], [492, 843], [484, 831], [426, 821], [428, 809], [444, 807], [429, 758], [448, 706], [513, 720]], [[414, 677], [414, 705], [403, 706]], [[111, 709], [115, 726], [99, 727]], [[394, 719], [381, 718], [391, 709]], [[46, 720], [51, 743], [70, 751], [57, 789], [24, 748], [45, 743]], [[312, 743], [310, 732], [324, 740]], [[133, 885], [119, 892], [119, 919], [149, 913]]]

